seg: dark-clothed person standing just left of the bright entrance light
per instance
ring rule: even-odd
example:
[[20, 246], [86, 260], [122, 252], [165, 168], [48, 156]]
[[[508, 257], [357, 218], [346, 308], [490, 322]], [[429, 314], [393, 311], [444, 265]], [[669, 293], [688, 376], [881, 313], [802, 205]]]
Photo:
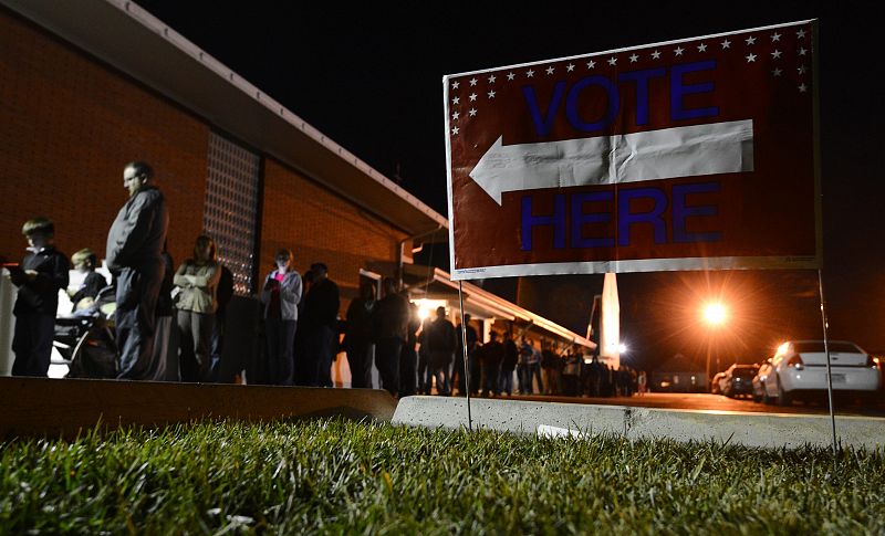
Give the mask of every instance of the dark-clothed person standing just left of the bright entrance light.
[[396, 282], [385, 277], [384, 297], [373, 313], [375, 325], [375, 366], [381, 376], [381, 387], [393, 396], [399, 393], [399, 356], [408, 338], [408, 299], [396, 292]]

